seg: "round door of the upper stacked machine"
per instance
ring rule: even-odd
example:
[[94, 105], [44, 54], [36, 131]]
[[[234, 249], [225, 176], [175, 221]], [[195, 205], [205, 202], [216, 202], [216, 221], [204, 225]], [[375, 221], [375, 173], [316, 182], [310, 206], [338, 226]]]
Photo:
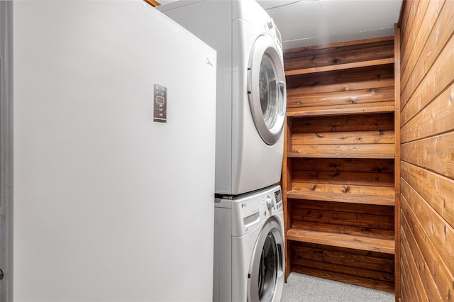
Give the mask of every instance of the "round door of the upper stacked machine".
[[250, 53], [248, 98], [255, 128], [267, 145], [274, 145], [284, 128], [287, 96], [282, 56], [270, 35], [260, 35]]

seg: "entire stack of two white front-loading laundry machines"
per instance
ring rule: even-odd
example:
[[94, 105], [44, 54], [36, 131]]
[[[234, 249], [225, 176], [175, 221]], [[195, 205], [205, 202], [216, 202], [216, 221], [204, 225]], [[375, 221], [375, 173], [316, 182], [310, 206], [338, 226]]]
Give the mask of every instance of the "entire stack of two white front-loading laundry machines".
[[157, 9], [217, 52], [214, 301], [280, 301], [284, 219], [275, 184], [286, 89], [279, 31], [255, 0], [180, 0]]

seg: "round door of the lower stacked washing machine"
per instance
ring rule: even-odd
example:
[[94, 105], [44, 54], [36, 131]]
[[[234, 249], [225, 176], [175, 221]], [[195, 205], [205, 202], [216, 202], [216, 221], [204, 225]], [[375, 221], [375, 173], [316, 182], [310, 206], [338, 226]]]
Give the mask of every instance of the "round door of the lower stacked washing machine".
[[270, 218], [255, 242], [248, 275], [248, 301], [280, 301], [284, 286], [284, 240]]

